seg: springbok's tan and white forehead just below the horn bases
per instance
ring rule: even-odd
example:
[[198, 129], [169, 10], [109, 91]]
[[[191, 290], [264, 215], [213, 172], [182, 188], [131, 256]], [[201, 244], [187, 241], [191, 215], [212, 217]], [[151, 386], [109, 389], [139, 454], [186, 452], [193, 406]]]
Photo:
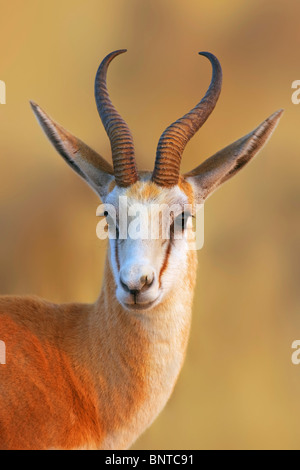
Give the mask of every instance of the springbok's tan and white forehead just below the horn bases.
[[150, 175], [144, 175], [129, 188], [113, 187], [106, 198], [107, 204], [118, 205], [119, 198], [126, 197], [127, 204], [193, 204], [193, 190], [189, 183], [180, 178], [177, 186], [163, 188], [153, 183]]

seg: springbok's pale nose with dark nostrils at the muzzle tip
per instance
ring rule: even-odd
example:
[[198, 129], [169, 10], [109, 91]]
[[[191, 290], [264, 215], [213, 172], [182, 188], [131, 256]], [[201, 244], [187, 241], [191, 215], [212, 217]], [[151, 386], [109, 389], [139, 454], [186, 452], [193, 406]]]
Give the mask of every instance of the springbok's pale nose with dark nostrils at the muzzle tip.
[[133, 296], [137, 296], [141, 290], [149, 288], [155, 279], [155, 271], [148, 265], [134, 265], [124, 267], [120, 271], [120, 282], [123, 289]]

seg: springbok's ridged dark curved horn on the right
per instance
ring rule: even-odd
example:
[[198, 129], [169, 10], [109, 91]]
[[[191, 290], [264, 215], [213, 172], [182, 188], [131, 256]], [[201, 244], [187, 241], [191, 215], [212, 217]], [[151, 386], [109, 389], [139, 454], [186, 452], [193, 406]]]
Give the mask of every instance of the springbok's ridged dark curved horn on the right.
[[152, 180], [159, 186], [175, 186], [180, 175], [182, 153], [217, 104], [222, 87], [222, 68], [210, 52], [199, 52], [207, 57], [213, 68], [212, 80], [204, 98], [195, 108], [171, 124], [162, 134], [156, 153]]

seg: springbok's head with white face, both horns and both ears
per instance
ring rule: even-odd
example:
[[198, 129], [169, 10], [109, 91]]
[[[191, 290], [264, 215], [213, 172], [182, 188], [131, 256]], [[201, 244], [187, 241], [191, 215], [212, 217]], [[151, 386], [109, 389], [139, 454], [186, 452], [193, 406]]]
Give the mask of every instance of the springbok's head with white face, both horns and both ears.
[[[157, 305], [166, 293], [176, 288], [178, 272], [187, 266], [188, 251], [193, 243], [190, 236], [191, 218], [196, 204], [203, 204], [221, 184], [255, 156], [274, 131], [283, 111], [274, 113], [254, 131], [191, 172], [181, 175], [183, 151], [213, 111], [222, 85], [219, 61], [213, 54], [201, 52], [200, 55], [209, 59], [213, 69], [206, 95], [195, 108], [162, 134], [154, 170], [138, 172], [131, 132], [113, 106], [106, 86], [108, 66], [123, 52], [126, 51], [112, 52], [103, 60], [95, 81], [96, 104], [110, 139], [113, 166], [54, 122], [38, 105], [33, 102], [31, 105], [56, 150], [96, 191], [107, 207], [103, 215], [116, 234], [110, 239], [110, 261], [118, 301], [127, 309], [146, 310]], [[120, 205], [120, 200], [123, 205]], [[128, 233], [127, 237], [126, 234], [120, 237], [120, 219], [127, 213], [126, 230], [129, 229], [134, 206], [143, 209], [140, 225], [149, 224], [150, 218], [153, 221], [156, 217], [159, 222], [156, 237], [132, 237]], [[170, 207], [175, 207], [174, 211], [171, 212]], [[186, 207], [191, 209], [185, 210]], [[110, 208], [114, 209], [114, 216]], [[168, 217], [164, 217], [166, 211]], [[163, 230], [164, 224], [169, 230]], [[182, 233], [181, 237], [174, 236], [176, 227], [177, 232]], [[169, 237], [163, 236], [166, 233]]]

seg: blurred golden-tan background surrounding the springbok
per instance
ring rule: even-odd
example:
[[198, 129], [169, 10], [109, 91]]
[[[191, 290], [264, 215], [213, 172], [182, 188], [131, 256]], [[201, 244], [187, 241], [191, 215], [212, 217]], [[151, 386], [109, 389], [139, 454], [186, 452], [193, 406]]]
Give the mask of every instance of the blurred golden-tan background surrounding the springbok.
[[258, 159], [207, 203], [186, 362], [168, 405], [135, 449], [299, 448], [300, 79], [297, 0], [0, 0], [0, 293], [93, 302], [105, 244], [97, 197], [56, 154], [28, 104], [110, 159], [93, 82], [104, 56], [141, 168], [190, 110], [220, 59], [223, 92], [188, 145], [183, 171], [285, 114]]

